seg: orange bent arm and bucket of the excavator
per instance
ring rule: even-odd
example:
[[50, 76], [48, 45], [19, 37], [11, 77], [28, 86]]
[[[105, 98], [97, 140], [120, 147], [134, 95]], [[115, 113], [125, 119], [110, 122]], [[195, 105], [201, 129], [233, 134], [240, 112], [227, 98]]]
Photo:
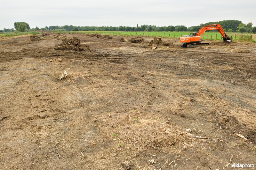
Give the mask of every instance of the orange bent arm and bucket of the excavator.
[[232, 37], [228, 37], [227, 33], [225, 33], [224, 29], [220, 24], [212, 24], [202, 27], [197, 33], [196, 36], [200, 36], [200, 39], [202, 39], [205, 31], [207, 30], [218, 30], [223, 38], [224, 41], [232, 41]]

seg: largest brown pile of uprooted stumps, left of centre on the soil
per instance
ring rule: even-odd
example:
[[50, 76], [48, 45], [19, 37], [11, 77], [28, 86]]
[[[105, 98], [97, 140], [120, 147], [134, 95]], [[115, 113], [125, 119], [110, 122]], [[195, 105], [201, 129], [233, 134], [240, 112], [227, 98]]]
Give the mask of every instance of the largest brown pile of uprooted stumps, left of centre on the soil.
[[[86, 45], [81, 48], [81, 41], [76, 37], [70, 39], [63, 39], [62, 43], [54, 48], [54, 50], [74, 50], [74, 51], [83, 51], [88, 49]], [[86, 49], [85, 49], [86, 48]]]

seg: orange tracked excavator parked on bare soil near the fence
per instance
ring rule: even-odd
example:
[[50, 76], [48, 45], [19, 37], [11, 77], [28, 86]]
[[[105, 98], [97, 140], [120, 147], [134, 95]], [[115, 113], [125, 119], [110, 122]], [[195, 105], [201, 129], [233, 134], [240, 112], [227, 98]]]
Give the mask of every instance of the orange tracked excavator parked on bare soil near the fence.
[[190, 35], [183, 35], [180, 37], [180, 46], [181, 47], [187, 47], [187, 48], [193, 48], [193, 47], [199, 47], [199, 46], [209, 46], [209, 43], [203, 43], [203, 35], [205, 31], [207, 30], [218, 30], [220, 34], [222, 35], [222, 38], [224, 41], [231, 43], [232, 37], [229, 37], [227, 33], [223, 30], [222, 26], [220, 24], [212, 24], [202, 27], [197, 33], [190, 33]]

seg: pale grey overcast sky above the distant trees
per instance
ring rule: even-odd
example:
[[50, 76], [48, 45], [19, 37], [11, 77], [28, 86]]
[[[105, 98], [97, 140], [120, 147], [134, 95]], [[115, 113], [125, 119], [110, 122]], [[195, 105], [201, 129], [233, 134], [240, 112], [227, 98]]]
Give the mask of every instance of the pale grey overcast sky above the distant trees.
[[236, 19], [256, 26], [255, 0], [12, 0], [0, 5], [0, 29], [38, 26], [185, 25]]

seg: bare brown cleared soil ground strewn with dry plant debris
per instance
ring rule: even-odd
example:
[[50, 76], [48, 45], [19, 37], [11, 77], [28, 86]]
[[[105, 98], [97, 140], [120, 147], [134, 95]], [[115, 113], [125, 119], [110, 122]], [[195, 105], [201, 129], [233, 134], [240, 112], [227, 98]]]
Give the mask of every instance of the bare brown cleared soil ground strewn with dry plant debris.
[[256, 164], [255, 43], [66, 34], [88, 47], [73, 51], [52, 35], [0, 41], [1, 169]]

